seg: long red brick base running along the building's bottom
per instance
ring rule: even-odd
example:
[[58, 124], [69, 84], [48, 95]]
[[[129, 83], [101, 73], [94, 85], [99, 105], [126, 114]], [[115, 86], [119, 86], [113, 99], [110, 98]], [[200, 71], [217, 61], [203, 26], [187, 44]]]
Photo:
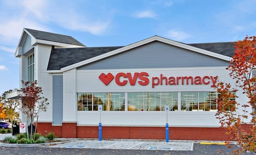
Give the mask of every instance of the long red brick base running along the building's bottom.
[[[244, 125], [249, 129], [248, 125]], [[98, 126], [77, 126], [76, 123], [38, 123], [38, 132], [54, 132], [62, 138], [99, 138]], [[169, 139], [228, 141], [225, 128], [169, 127]], [[102, 138], [110, 139], [162, 139], [165, 140], [165, 127], [102, 126]]]

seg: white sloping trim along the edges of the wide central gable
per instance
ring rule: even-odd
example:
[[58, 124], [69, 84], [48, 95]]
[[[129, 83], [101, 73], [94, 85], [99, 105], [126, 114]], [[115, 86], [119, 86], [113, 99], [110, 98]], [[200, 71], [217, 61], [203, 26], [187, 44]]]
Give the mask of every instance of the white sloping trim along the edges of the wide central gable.
[[[232, 59], [232, 57], [221, 55], [221, 54], [218, 54], [218, 53], [215, 53], [215, 52], [210, 52], [210, 51], [207, 51], [207, 50], [204, 50], [204, 49], [200, 49], [200, 48], [197, 48], [197, 47], [194, 47], [194, 46], [187, 45], [185, 43], [179, 43], [179, 42], [174, 41], [174, 40], [169, 40], [169, 39], [166, 39], [166, 38], [163, 38], [163, 37], [154, 36], [154, 37], [150, 37], [148, 39], [141, 40], [139, 42], [130, 44], [128, 46], [124, 46], [122, 48], [113, 50], [111, 52], [108, 52], [108, 53], [105, 53], [105, 54], [102, 54], [102, 55], [99, 55], [99, 56], [96, 56], [96, 57], [92, 57], [90, 59], [87, 59], [87, 60], [84, 60], [84, 61], [81, 61], [81, 62], [78, 62], [78, 63], [75, 63], [75, 64], [72, 64], [70, 66], [66, 66], [66, 67], [61, 68], [60, 70], [58, 70], [58, 72], [65, 72], [67, 70], [74, 69], [74, 68], [83, 66], [85, 64], [92, 63], [94, 61], [101, 60], [101, 59], [104, 59], [106, 57], [110, 57], [112, 55], [119, 54], [121, 52], [125, 52], [129, 49], [133, 49], [133, 48], [136, 48], [138, 46], [142, 46], [142, 45], [145, 45], [147, 43], [151, 43], [153, 41], [160, 41], [162, 43], [167, 43], [169, 45], [177, 46], [177, 47], [180, 47], [180, 48], [183, 48], [183, 49], [188, 49], [188, 50], [198, 52], [198, 53], [201, 53], [201, 54], [204, 54], [204, 55], [209, 55], [211, 57], [216, 57], [216, 58], [221, 59], [221, 60], [230, 61]], [[49, 71], [49, 72], [52, 72], [52, 71]], [[56, 70], [53, 71], [53, 72], [56, 72]]]

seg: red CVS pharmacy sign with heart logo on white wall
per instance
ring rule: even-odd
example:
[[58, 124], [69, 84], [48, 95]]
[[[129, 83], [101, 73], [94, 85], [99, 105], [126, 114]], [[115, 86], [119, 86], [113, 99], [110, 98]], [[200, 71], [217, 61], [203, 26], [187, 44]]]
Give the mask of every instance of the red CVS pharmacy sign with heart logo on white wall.
[[119, 86], [125, 86], [126, 84], [130, 84], [134, 86], [136, 83], [141, 86], [146, 86], [151, 83], [152, 88], [158, 85], [209, 85], [211, 87], [215, 86], [217, 82], [218, 76], [164, 76], [160, 74], [158, 77], [150, 77], [147, 72], [135, 72], [135, 73], [124, 73], [119, 72], [115, 76], [111, 73], [107, 75], [102, 73], [99, 75], [99, 79], [108, 86], [109, 83], [113, 79], [115, 79], [116, 84]]

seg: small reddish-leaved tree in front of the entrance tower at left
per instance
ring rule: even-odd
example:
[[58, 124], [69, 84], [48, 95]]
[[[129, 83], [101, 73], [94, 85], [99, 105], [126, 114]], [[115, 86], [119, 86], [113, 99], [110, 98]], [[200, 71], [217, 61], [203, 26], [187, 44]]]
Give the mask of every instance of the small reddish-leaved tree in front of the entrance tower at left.
[[41, 96], [43, 94], [43, 90], [41, 87], [37, 86], [37, 80], [33, 83], [24, 82], [23, 80], [21, 82], [24, 84], [24, 88], [21, 89], [23, 93], [20, 95], [20, 98], [22, 98], [22, 107], [20, 110], [27, 116], [27, 118], [30, 118], [31, 137], [32, 123], [35, 116], [38, 116], [42, 111], [45, 112], [49, 103], [47, 102], [47, 98]]

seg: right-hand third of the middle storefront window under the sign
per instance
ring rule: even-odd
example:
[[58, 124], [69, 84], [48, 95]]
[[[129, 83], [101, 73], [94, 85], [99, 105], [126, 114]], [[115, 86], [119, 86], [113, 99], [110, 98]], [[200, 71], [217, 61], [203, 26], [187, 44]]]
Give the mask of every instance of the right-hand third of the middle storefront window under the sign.
[[169, 105], [170, 111], [178, 110], [178, 93], [177, 92], [162, 92], [162, 111], [164, 111], [165, 106]]

